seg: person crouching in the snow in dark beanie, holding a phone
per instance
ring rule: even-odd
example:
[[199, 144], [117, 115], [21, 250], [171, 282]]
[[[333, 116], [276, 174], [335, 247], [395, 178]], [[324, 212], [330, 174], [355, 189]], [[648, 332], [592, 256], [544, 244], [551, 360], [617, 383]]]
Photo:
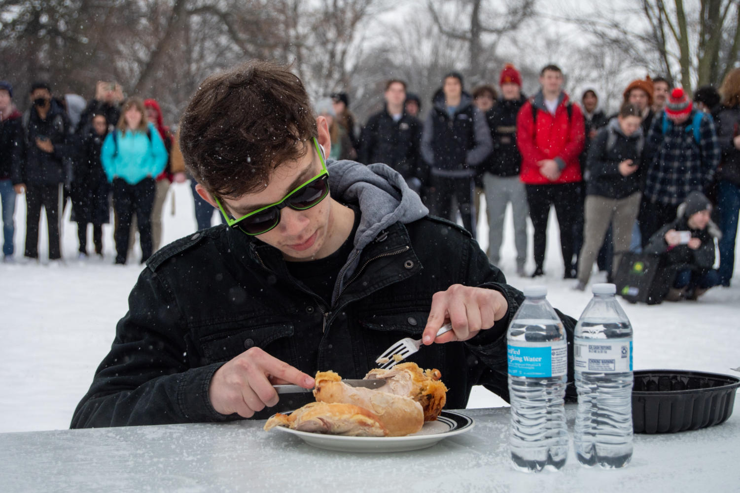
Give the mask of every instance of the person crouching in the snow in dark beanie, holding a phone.
[[645, 253], [662, 255], [667, 268], [676, 271], [665, 297], [676, 302], [697, 299], [721, 284], [714, 265], [714, 239], [719, 228], [710, 220], [712, 204], [700, 191], [692, 191], [679, 205], [678, 217], [650, 237]]

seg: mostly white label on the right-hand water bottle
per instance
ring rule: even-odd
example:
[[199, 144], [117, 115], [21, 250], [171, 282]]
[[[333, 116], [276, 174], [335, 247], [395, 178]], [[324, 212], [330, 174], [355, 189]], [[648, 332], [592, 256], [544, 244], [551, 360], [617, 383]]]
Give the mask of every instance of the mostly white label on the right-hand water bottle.
[[624, 373], [632, 371], [632, 341], [582, 341], [573, 344], [576, 371]]

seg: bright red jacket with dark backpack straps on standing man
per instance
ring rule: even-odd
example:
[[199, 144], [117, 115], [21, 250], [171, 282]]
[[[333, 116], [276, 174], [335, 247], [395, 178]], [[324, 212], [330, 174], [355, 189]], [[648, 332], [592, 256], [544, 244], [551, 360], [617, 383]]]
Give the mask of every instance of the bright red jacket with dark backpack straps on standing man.
[[[532, 119], [532, 104], [537, 108], [536, 122]], [[582, 181], [579, 154], [583, 150], [583, 113], [575, 104], [571, 105], [571, 118], [568, 121], [568, 95], [563, 93], [562, 101], [551, 115], [545, 107], [542, 92], [524, 103], [517, 115], [517, 146], [522, 153], [522, 170], [519, 178], [528, 185], [548, 185], [551, 183], [573, 183]], [[535, 132], [536, 129], [536, 132]], [[539, 172], [537, 163], [554, 159], [565, 163], [557, 180], [551, 181]]]

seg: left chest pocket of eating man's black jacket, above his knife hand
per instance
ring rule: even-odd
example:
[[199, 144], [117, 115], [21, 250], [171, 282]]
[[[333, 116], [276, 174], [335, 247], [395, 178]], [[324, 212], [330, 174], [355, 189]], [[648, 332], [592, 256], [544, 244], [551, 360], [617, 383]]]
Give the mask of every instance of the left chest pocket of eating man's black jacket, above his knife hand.
[[[248, 324], [249, 322], [243, 322]], [[297, 361], [293, 324], [275, 322], [256, 327], [212, 327], [211, 333], [200, 340], [205, 364], [229, 361], [252, 347], [259, 347], [270, 356], [295, 366]]]

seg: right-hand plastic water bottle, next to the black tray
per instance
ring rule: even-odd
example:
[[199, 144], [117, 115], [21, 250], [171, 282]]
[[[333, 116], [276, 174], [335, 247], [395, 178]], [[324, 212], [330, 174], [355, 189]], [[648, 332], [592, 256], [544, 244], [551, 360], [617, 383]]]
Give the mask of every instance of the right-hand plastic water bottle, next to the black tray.
[[578, 415], [573, 444], [585, 466], [612, 469], [632, 458], [632, 325], [613, 284], [595, 284], [576, 324]]

